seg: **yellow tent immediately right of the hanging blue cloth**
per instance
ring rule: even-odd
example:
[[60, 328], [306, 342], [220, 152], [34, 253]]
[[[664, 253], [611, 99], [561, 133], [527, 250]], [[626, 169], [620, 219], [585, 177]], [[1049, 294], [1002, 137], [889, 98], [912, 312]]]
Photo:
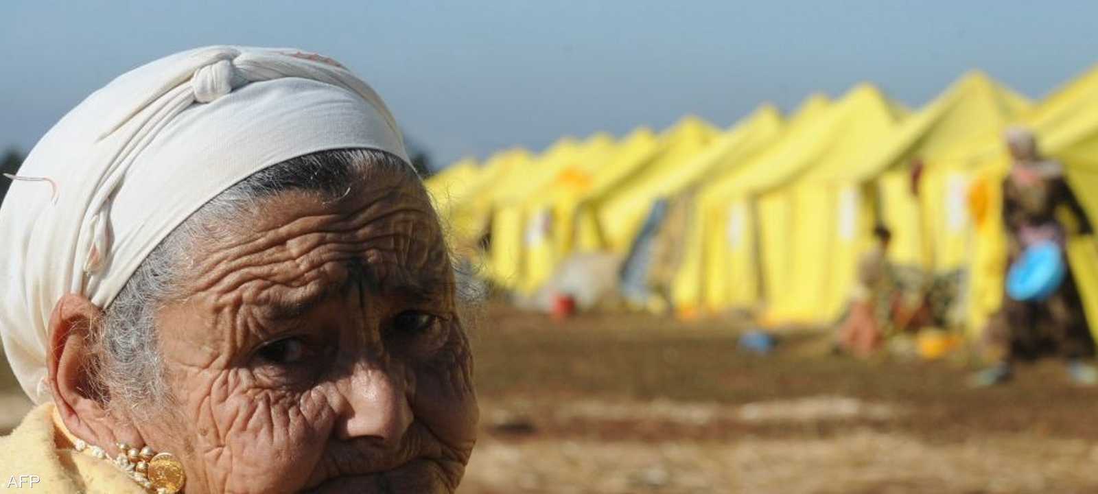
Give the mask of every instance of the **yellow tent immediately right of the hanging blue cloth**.
[[752, 176], [768, 173], [766, 162], [760, 157], [768, 156], [770, 149], [781, 149], [791, 136], [803, 135], [805, 125], [822, 114], [827, 105], [827, 98], [820, 94], [806, 99], [769, 144], [743, 146], [732, 153], [728, 159], [736, 165], [707, 179], [697, 192], [682, 273], [673, 292], [681, 315], [701, 312], [699, 306], [718, 312], [759, 303], [758, 228], [747, 195], [750, 189], [743, 184], [759, 181]]

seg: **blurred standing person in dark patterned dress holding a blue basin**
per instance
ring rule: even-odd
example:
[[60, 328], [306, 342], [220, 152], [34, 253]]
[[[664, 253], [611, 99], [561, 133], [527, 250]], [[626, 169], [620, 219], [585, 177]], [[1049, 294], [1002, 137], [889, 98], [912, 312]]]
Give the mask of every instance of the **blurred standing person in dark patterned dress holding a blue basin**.
[[[1008, 266], [1027, 248], [1041, 243], [1052, 242], [1063, 252], [1069, 234], [1089, 233], [1091, 228], [1064, 180], [1063, 167], [1041, 158], [1037, 139], [1027, 128], [1008, 130], [1006, 141], [1013, 158], [1010, 173], [1002, 182]], [[1071, 266], [1067, 268], [1064, 281], [1045, 300], [1018, 301], [1004, 294], [1002, 306], [985, 332], [985, 344], [995, 363], [973, 375], [972, 384], [1005, 382], [1011, 378], [1012, 363], [1018, 359], [1050, 353], [1067, 359], [1068, 375], [1076, 383], [1098, 382], [1098, 371], [1086, 362], [1094, 357], [1095, 344]]]

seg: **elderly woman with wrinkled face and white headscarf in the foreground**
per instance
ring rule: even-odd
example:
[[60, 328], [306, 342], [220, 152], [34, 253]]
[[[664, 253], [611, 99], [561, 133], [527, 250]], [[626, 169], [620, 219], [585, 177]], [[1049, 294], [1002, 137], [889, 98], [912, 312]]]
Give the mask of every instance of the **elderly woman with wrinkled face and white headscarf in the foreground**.
[[[381, 99], [294, 49], [115, 79], [0, 210], [38, 492], [452, 492], [475, 442], [438, 220]], [[32, 479], [30, 476], [24, 479]]]

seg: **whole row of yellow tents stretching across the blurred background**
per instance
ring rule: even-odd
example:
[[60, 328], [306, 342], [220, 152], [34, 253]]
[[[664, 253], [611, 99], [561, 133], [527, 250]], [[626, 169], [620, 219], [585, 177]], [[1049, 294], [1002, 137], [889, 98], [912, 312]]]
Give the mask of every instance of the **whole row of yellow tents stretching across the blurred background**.
[[[672, 200], [685, 205], [685, 228], [665, 296], [683, 316], [749, 310], [765, 325], [831, 323], [884, 224], [896, 265], [965, 273], [961, 300], [976, 329], [1001, 296], [1010, 125], [1038, 133], [1098, 218], [1098, 69], [1040, 104], [982, 72], [918, 111], [860, 85], [833, 101], [811, 96], [786, 119], [764, 104], [727, 130], [687, 116], [659, 134], [506, 149], [456, 162], [427, 187], [458, 254], [518, 293], [575, 252], [627, 255], [653, 204]], [[1098, 323], [1094, 239], [1074, 238], [1068, 256]]]

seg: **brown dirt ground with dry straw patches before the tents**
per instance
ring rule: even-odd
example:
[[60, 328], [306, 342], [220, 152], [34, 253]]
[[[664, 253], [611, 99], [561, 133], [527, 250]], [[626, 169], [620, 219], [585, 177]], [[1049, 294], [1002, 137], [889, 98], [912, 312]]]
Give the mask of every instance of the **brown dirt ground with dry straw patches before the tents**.
[[[1056, 361], [970, 390], [962, 361], [860, 361], [808, 333], [757, 356], [721, 321], [478, 319], [461, 493], [1098, 492], [1098, 390]], [[25, 407], [5, 383], [0, 430]]]

